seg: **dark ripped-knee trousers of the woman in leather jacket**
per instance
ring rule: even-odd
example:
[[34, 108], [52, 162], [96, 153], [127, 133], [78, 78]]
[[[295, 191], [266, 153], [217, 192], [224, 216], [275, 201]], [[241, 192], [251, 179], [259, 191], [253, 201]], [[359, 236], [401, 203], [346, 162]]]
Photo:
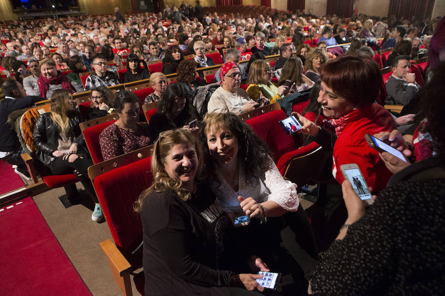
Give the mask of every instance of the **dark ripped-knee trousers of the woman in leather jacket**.
[[84, 150], [79, 150], [76, 154], [79, 157], [73, 162], [68, 161], [69, 156], [72, 154], [65, 154], [56, 157], [48, 164], [48, 167], [53, 175], [74, 174], [82, 185], [84, 185], [89, 197], [91, 197], [94, 203], [98, 203], [99, 201], [97, 200], [96, 193], [88, 178], [88, 167], [93, 164], [92, 160], [89, 157], [89, 154]]

